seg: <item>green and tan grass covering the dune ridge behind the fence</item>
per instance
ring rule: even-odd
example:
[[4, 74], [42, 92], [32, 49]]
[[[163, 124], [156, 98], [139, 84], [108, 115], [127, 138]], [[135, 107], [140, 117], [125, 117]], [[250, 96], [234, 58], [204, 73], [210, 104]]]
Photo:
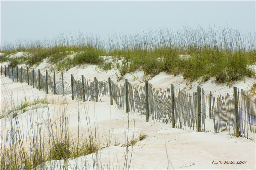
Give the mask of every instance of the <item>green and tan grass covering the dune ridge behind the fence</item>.
[[[26, 59], [6, 57], [15, 51], [28, 51], [32, 55]], [[67, 51], [74, 51], [74, 57], [64, 59], [71, 54]], [[174, 76], [182, 73], [188, 81], [200, 77], [207, 81], [214, 77], [216, 82], [229, 83], [245, 76], [255, 77], [255, 71], [247, 67], [256, 60], [255, 33], [254, 36], [245, 35], [231, 28], [184, 27], [177, 32], [159, 28], [143, 35], [112, 34], [108, 42], [98, 35], [80, 34], [76, 38], [60, 35], [54, 40], [6, 43], [1, 52], [4, 53], [1, 62], [9, 60], [14, 66], [24, 62], [32, 66], [48, 58], [58, 70], [89, 63], [104, 71], [116, 67], [121, 76], [141, 68], [150, 76], [162, 71]], [[180, 56], [182, 54], [187, 57]], [[113, 56], [114, 61], [123, 59], [123, 63], [105, 63], [99, 56]]]

